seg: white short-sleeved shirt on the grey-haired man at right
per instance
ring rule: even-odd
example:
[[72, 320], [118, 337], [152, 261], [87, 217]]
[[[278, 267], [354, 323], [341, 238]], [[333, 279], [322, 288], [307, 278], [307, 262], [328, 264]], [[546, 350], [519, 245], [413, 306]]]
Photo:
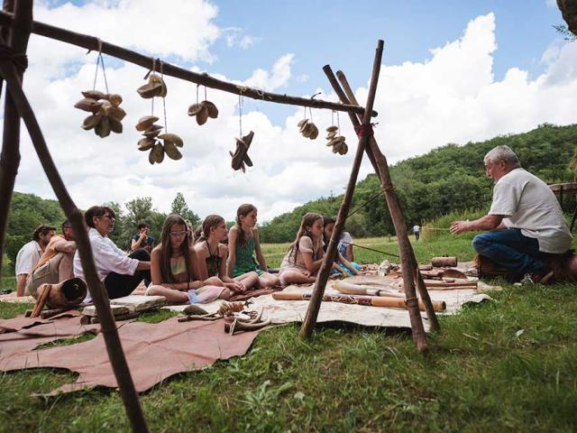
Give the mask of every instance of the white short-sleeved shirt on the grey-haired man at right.
[[536, 238], [539, 251], [565, 253], [571, 248], [572, 235], [553, 191], [524, 169], [509, 171], [495, 184], [489, 215], [502, 215], [505, 226]]

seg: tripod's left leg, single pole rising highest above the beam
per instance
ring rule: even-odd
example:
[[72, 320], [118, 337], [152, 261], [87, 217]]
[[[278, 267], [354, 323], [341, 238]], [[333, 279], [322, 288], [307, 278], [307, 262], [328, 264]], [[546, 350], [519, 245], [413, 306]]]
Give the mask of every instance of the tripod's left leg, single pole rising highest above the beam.
[[[379, 82], [380, 73], [380, 60], [382, 59], [383, 41], [377, 43], [377, 50], [375, 52], [375, 59], [372, 63], [372, 74], [371, 74], [371, 86], [369, 88], [369, 97], [367, 98], [367, 106], [365, 106], [364, 115], [362, 115], [362, 125], [364, 127], [371, 127], [371, 111], [375, 100], [375, 94], [377, 92], [377, 84]], [[357, 183], [357, 177], [359, 175], [359, 168], [361, 167], [362, 154], [364, 153], [365, 147], [369, 142], [369, 134], [361, 132], [359, 134], [359, 145], [357, 147], [357, 152], [354, 155], [353, 170], [351, 170], [351, 176], [349, 178], [349, 183], [347, 184], [346, 191], [344, 192], [343, 203], [339, 208], [338, 215], [336, 217], [336, 222], [334, 224], [333, 235], [331, 235], [331, 240], [326, 249], [325, 258], [321, 269], [318, 272], [318, 276], [315, 281], [315, 289], [313, 290], [313, 295], [308, 303], [307, 315], [303, 321], [303, 326], [300, 328], [300, 335], [309, 338], [313, 334], [313, 330], [316, 325], [316, 318], [318, 317], [318, 310], [321, 307], [321, 301], [323, 300], [323, 295], [325, 293], [326, 281], [328, 280], [328, 274], [331, 272], [334, 257], [336, 255], [336, 247], [338, 245], [338, 240], [341, 238], [344, 229], [344, 221], [349, 213], [349, 208], [351, 207], [351, 202], [353, 201], [354, 187]], [[418, 309], [418, 305], [417, 305]]]

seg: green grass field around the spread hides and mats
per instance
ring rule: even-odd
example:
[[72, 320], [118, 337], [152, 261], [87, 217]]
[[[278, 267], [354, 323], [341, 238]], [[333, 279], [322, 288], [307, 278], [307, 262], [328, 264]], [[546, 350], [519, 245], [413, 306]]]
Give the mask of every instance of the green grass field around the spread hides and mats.
[[[360, 244], [398, 253], [394, 239]], [[471, 237], [414, 244], [423, 263], [448, 253], [472, 258]], [[263, 245], [278, 266], [287, 245]], [[356, 250], [359, 262], [394, 257]], [[5, 285], [5, 284], [3, 284]], [[184, 373], [142, 394], [151, 431], [575, 431], [576, 285], [517, 287], [490, 303], [442, 317], [430, 354], [408, 332], [298, 325], [275, 327], [241, 358]], [[0, 317], [24, 305], [0, 303]], [[151, 315], [147, 321], [167, 317]], [[69, 344], [69, 341], [59, 344]], [[1, 347], [0, 347], [1, 350]], [[142, 360], [146, 362], [146, 360]], [[30, 397], [74, 374], [31, 370], [0, 376], [0, 431], [126, 431], [117, 392]]]

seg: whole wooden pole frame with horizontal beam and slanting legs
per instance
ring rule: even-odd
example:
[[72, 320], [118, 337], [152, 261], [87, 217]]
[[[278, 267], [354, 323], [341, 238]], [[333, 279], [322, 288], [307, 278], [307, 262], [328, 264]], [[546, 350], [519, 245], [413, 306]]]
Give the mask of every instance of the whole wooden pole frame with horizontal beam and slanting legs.
[[[25, 60], [26, 49], [31, 32], [46, 36], [50, 39], [84, 47], [88, 50], [96, 50], [100, 45], [102, 47], [102, 52], [115, 58], [141, 65], [144, 68], [151, 68], [155, 60], [143, 56], [138, 52], [126, 50], [111, 43], [100, 41], [98, 38], [93, 36], [70, 32], [45, 23], [34, 22], [32, 20], [32, 0], [5, 0], [4, 9], [0, 12], [0, 26], [2, 27], [0, 32], [0, 48], [3, 48], [3, 51], [5, 51], [4, 54], [0, 52], [0, 91], [2, 90], [4, 82], [6, 83], [7, 88], [5, 98], [4, 136], [2, 152], [0, 154], [0, 200], [3, 203], [3, 206], [0, 207], [0, 271], [2, 269], [2, 253], [5, 244], [8, 210], [14, 192], [16, 173], [21, 159], [19, 148], [20, 120], [22, 118], [32, 138], [32, 144], [39, 156], [42, 168], [50, 181], [52, 189], [59, 199], [60, 206], [72, 225], [78, 245], [78, 253], [87, 280], [87, 287], [92, 299], [94, 300], [98, 318], [101, 322], [101, 330], [105, 338], [106, 350], [110, 358], [110, 363], [118, 383], [118, 388], [123, 399], [124, 408], [130, 421], [131, 428], [133, 431], [146, 432], [148, 431], [148, 428], [138, 399], [138, 393], [134, 388], [130, 369], [126, 363], [121, 341], [116, 331], [114, 316], [110, 311], [109, 299], [104, 285], [99, 281], [96, 274], [94, 258], [90, 248], [87, 231], [84, 226], [82, 212], [80, 212], [72, 198], [70, 198], [69, 192], [60, 177], [60, 173], [51, 158], [48, 146], [41, 133], [40, 125], [38, 124], [36, 116], [32, 110], [32, 106], [23, 93], [22, 81], [25, 69], [25, 62], [23, 62], [23, 60]], [[349, 96], [347, 97], [343, 93], [343, 90], [338, 86], [338, 83], [336, 83], [336, 80], [332, 80], [331, 84], [341, 99], [340, 104], [320, 99], [289, 97], [287, 95], [261, 92], [260, 90], [253, 88], [243, 88], [234, 83], [228, 83], [212, 78], [207, 74], [197, 74], [187, 69], [170, 65], [169, 63], [164, 63], [164, 74], [185, 79], [209, 88], [217, 88], [236, 95], [243, 95], [244, 97], [252, 97], [279, 104], [312, 106], [316, 108], [329, 108], [347, 112], [351, 116], [353, 125], [358, 126], [359, 124], [362, 124], [366, 127], [366, 125], [370, 124], [371, 116], [377, 115], [377, 113], [372, 110], [372, 104], [377, 87], [382, 49], [383, 41], [379, 41], [377, 56], [375, 56], [373, 64], [371, 92], [366, 108], [357, 104], [350, 88], [348, 89]], [[327, 68], [328, 67], [325, 67], [325, 72], [327, 71]], [[328, 69], [330, 70], [330, 68]], [[329, 79], [331, 79], [330, 76]], [[357, 117], [357, 115], [361, 114], [362, 123], [359, 122], [359, 118]], [[363, 152], [367, 153], [377, 176], [379, 176], [379, 179], [381, 180], [381, 186], [385, 191], [387, 203], [389, 204], [390, 213], [393, 217], [399, 244], [401, 246], [401, 262], [408, 264], [407, 266], [403, 266], [403, 277], [406, 281], [407, 303], [411, 318], [411, 327], [419, 351], [424, 351], [426, 350], [426, 336], [421, 317], [418, 313], [417, 298], [415, 297], [416, 281], [421, 298], [427, 306], [426, 312], [428, 318], [431, 320], [431, 326], [438, 329], [435, 311], [433, 311], [431, 301], [426, 293], [423, 280], [416, 271], [417, 262], [410, 244], [408, 243], [406, 226], [402, 218], [400, 207], [398, 207], [398, 201], [394, 189], [392, 188], [392, 183], [390, 182], [387, 161], [380, 152], [374, 138], [369, 135], [362, 135], [359, 140], [359, 147], [353, 163], [353, 172], [343, 199], [343, 204], [339, 210], [336, 225], [334, 227], [334, 234], [331, 238], [328, 252], [325, 255], [325, 262], [320, 270], [319, 278], [316, 281], [314, 297], [309, 304], [307, 318], [302, 327], [301, 333], [304, 336], [310, 336], [315, 327], [318, 309], [320, 308], [320, 299], [322, 299], [328, 271], [330, 270], [330, 263], [333, 263], [336, 252], [336, 239], [338, 239], [343, 232], [344, 220], [346, 219], [346, 214], [353, 198], [354, 185], [358, 176]]]

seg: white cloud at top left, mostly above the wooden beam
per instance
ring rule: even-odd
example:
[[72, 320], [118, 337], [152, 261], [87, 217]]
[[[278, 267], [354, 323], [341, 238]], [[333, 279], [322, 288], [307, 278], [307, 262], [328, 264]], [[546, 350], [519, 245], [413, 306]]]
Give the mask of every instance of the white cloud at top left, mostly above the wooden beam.
[[[174, 11], [179, 11], [175, 14]], [[40, 2], [34, 19], [74, 32], [97, 36], [116, 45], [151, 56], [183, 61], [213, 60], [209, 51], [220, 37], [213, 23], [218, 9], [206, 0], [97, 0], [86, 5], [66, 3], [50, 7]], [[48, 77], [65, 77], [69, 67], [84, 63], [78, 47], [32, 35], [31, 67], [43, 69]]]

